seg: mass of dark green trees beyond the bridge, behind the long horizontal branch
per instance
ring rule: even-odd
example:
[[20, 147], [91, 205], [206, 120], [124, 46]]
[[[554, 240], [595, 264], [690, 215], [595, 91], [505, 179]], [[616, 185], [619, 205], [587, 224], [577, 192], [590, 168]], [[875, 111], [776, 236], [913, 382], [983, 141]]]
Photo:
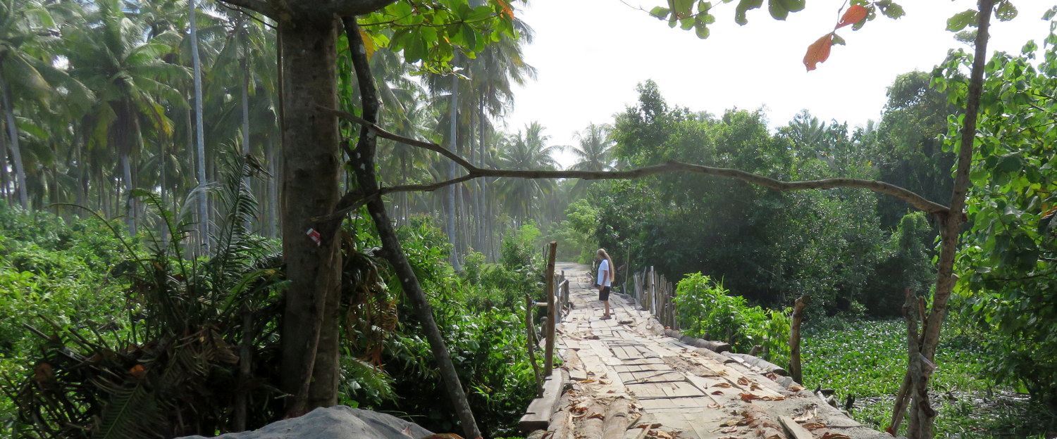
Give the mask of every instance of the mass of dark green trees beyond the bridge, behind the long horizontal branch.
[[[669, 108], [649, 81], [639, 87], [638, 103], [617, 116], [613, 136], [628, 166], [678, 159], [790, 180], [878, 172], [874, 132], [849, 135], [847, 125], [803, 112], [772, 134], [759, 111], [715, 117]], [[928, 254], [917, 246], [908, 255], [900, 247], [908, 241], [897, 237], [930, 241], [927, 226], [917, 216], [891, 235], [877, 197], [866, 191], [782, 193], [699, 174], [612, 182], [592, 191], [590, 209], [568, 212], [597, 211], [594, 235], [602, 247], [630, 247], [632, 260], [669, 278], [701, 271], [757, 303], [784, 306], [810, 294], [830, 311], [859, 303], [877, 314], [897, 312], [905, 288], [927, 288], [903, 271], [926, 271]]]

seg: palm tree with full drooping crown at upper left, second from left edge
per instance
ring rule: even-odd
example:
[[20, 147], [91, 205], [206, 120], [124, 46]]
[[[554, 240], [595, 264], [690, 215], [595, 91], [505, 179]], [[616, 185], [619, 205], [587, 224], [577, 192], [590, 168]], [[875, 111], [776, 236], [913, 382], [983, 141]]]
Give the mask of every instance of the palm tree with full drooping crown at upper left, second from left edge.
[[[126, 17], [119, 0], [96, 2], [95, 26], [75, 30], [69, 37], [72, 75], [98, 97], [85, 119], [91, 133], [90, 150], [116, 150], [124, 195], [134, 186], [131, 160], [143, 149], [143, 126], [159, 135], [172, 134], [172, 122], [162, 102], [186, 106], [183, 95], [169, 85], [187, 77], [187, 70], [165, 62], [172, 41], [181, 37], [164, 32], [144, 40], [146, 30]], [[134, 206], [129, 204], [128, 226], [135, 232]]]

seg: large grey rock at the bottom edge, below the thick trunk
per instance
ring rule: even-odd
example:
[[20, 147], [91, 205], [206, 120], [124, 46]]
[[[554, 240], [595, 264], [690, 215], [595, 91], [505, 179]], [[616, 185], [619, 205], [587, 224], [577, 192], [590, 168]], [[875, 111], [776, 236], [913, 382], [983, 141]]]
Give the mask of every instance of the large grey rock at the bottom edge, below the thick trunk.
[[[228, 433], [217, 439], [419, 439], [432, 433], [394, 416], [339, 405], [316, 408], [299, 418], [265, 425], [261, 430]], [[180, 439], [205, 439], [187, 436]]]

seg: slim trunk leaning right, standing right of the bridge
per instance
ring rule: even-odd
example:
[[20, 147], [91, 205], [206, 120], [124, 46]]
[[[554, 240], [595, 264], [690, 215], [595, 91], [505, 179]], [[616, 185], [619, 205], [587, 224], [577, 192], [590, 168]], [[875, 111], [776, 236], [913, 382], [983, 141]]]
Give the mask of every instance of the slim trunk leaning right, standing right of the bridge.
[[954, 287], [954, 256], [958, 253], [958, 235], [964, 213], [965, 195], [969, 187], [969, 168], [972, 160], [972, 144], [977, 134], [977, 111], [980, 107], [980, 95], [983, 93], [984, 62], [987, 56], [988, 25], [990, 24], [994, 0], [980, 0], [980, 13], [977, 23], [976, 54], [972, 59], [972, 71], [969, 75], [969, 93], [965, 103], [965, 119], [961, 132], [961, 145], [958, 152], [958, 168], [954, 171], [953, 193], [950, 197], [950, 208], [941, 219], [940, 259], [937, 264], [935, 294], [932, 298], [932, 308], [924, 318], [922, 327], [921, 354], [910, 352], [911, 381], [913, 383], [913, 403], [910, 409], [910, 423], [907, 436], [910, 439], [929, 439], [932, 437], [932, 424], [935, 411], [928, 401], [928, 382], [931, 366], [935, 358], [935, 348], [940, 342], [940, 329], [947, 313], [947, 302]]

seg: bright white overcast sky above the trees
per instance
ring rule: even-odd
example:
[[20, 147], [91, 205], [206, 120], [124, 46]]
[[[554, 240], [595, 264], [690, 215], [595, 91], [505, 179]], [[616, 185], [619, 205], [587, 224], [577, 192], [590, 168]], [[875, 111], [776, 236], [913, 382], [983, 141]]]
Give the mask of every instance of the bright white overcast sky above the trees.
[[[573, 133], [588, 123], [609, 123], [637, 99], [635, 84], [653, 79], [669, 104], [722, 114], [731, 108], [766, 109], [772, 128], [783, 126], [801, 109], [821, 120], [861, 126], [878, 119], [885, 92], [895, 76], [931, 71], [947, 51], [964, 44], [944, 30], [951, 15], [971, 8], [972, 0], [896, 0], [907, 15], [878, 17], [859, 30], [837, 32], [848, 45], [835, 45], [830, 59], [812, 72], [802, 59], [808, 45], [833, 28], [845, 0], [816, 0], [771, 18], [766, 8], [748, 12], [748, 24], [734, 22], [737, 2], [713, 8], [717, 22], [707, 40], [692, 31], [669, 28], [618, 0], [533, 0], [519, 11], [536, 31], [524, 50], [538, 69], [536, 81], [516, 90], [507, 132], [538, 120], [551, 145], [573, 145]], [[663, 0], [627, 0], [650, 9]], [[1042, 14], [1055, 0], [1017, 0], [1019, 16], [995, 22], [990, 51], [1020, 53], [1028, 39], [1049, 33]], [[559, 157], [568, 166], [568, 154]]]

